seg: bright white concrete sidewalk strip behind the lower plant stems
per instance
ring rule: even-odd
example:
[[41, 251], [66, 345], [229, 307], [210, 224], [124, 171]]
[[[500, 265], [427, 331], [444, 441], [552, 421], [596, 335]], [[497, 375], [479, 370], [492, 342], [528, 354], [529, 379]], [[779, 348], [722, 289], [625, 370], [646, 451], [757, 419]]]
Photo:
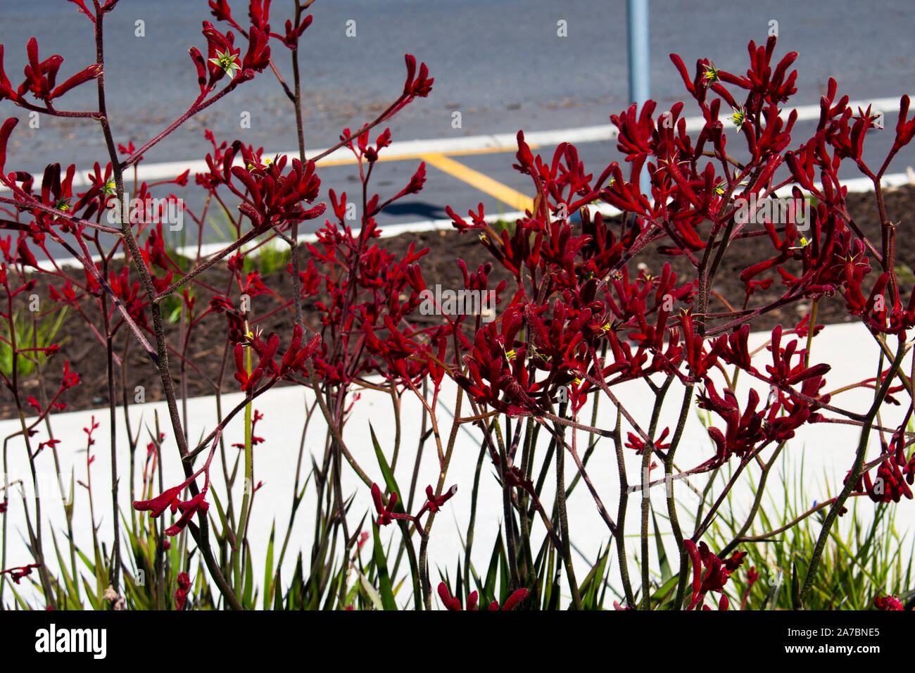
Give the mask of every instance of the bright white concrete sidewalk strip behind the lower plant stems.
[[[768, 339], [768, 333], [756, 333], [750, 337], [750, 346], [755, 347], [759, 343]], [[783, 338], [782, 344], [786, 343]], [[855, 383], [856, 381], [873, 376], [877, 368], [877, 344], [870, 334], [857, 324], [835, 325], [825, 328], [823, 333], [813, 342], [813, 355], [811, 363], [826, 362], [833, 364], [833, 370], [827, 374], [827, 386], [833, 390], [842, 385]], [[757, 355], [757, 366], [761, 369], [762, 364], [770, 363], [770, 353], [763, 350]], [[910, 358], [907, 359], [910, 363]], [[906, 365], [907, 371], [910, 371]], [[741, 406], [746, 402], [749, 377], [744, 374], [740, 376], [737, 398]], [[719, 386], [720, 391], [720, 386]], [[759, 386], [760, 396], [765, 399], [768, 391]], [[626, 405], [640, 423], [647, 426], [649, 415], [651, 413], [652, 396], [647, 385], [640, 382], [634, 382], [627, 385], [621, 385], [615, 389], [619, 399]], [[285, 530], [285, 522], [288, 519], [288, 512], [292, 501], [292, 489], [295, 482], [296, 457], [301, 439], [302, 423], [305, 419], [304, 401], [307, 391], [297, 387], [282, 387], [272, 390], [267, 395], [255, 401], [254, 407], [264, 413], [264, 420], [256, 428], [256, 434], [264, 438], [264, 443], [255, 447], [254, 453], [254, 483], [264, 482], [264, 487], [257, 492], [254, 498], [253, 519], [250, 529], [250, 538], [253, 544], [253, 559], [255, 565], [255, 578], [263, 577], [263, 551], [270, 534], [270, 528], [274, 522], [279, 528], [277, 537], [282, 539], [282, 532]], [[839, 407], [852, 407], [856, 410], [865, 410], [872, 399], [872, 391], [854, 391], [834, 396], [833, 404]], [[446, 385], [440, 398], [447, 408], [453, 408], [454, 385]], [[240, 394], [223, 396], [223, 409], [231, 407], [242, 399]], [[666, 404], [662, 411], [662, 421], [660, 428], [665, 425], [673, 426], [681, 405], [682, 396], [677, 394], [674, 386], [668, 395]], [[465, 408], [466, 405], [465, 405]], [[615, 413], [610, 410], [607, 400], [601, 402], [601, 413], [598, 414], [597, 425], [601, 428], [611, 428], [614, 422]], [[886, 405], [882, 414], [882, 421], [885, 425], [891, 426], [899, 423], [904, 408], [892, 407]], [[154, 413], [158, 412], [160, 425], [167, 433], [167, 439], [163, 448], [163, 456], [166, 470], [166, 487], [183, 481], [178, 466], [178, 452], [175, 448], [174, 441], [171, 437], [171, 429], [167, 423], [167, 413], [164, 403], [149, 403], [144, 405], [135, 405], [130, 407], [131, 421], [134, 429], [143, 428], [141, 433], [141, 448], [138, 450], [137, 460], [142, 466], [145, 457], [145, 443], [148, 441], [149, 433], [153, 428]], [[189, 415], [189, 437], [193, 440], [201, 438], [210, 432], [216, 425], [215, 404], [212, 397], [203, 397], [188, 401]], [[100, 536], [102, 539], [109, 541], [112, 538], [111, 533], [111, 503], [110, 503], [110, 455], [107, 445], [109, 435], [108, 428], [108, 411], [107, 409], [95, 409], [93, 411], [80, 411], [74, 413], [58, 414], [52, 418], [55, 437], [61, 440], [58, 450], [61, 459], [61, 470], [67, 475], [69, 483], [70, 470], [74, 470], [77, 480], [86, 481], [86, 464], [85, 453], [85, 433], [82, 429], [89, 425], [90, 419], [94, 416], [96, 422], [100, 424], [99, 429], [95, 431], [96, 443], [92, 447], [92, 455], [95, 460], [92, 462], [92, 488], [95, 499], [96, 525], [101, 525]], [[418, 402], [411, 399], [410, 396], [404, 396], [403, 407], [403, 440], [398, 459], [395, 476], [402, 488], [407, 488], [410, 483], [410, 477], [413, 470], [415, 447], [419, 436], [420, 406]], [[125, 440], [125, 430], [123, 421], [123, 409], [118, 409], [118, 463], [120, 473], [123, 474], [121, 482], [121, 505], [124, 511], [130, 507], [129, 488], [127, 485], [127, 466], [129, 456], [127, 453], [127, 442]], [[590, 419], [590, 412], [583, 412], [580, 416], [583, 421]], [[382, 448], [391, 458], [393, 450], [393, 416], [391, 412], [391, 402], [388, 396], [375, 393], [373, 391], [363, 391], [361, 400], [356, 403], [355, 410], [345, 430], [345, 440], [356, 461], [373, 479], [378, 483], [383, 483], [382, 474], [375, 460], [374, 451], [371, 446], [368, 424], [375, 429]], [[450, 429], [451, 418], [445, 413], [444, 409], [439, 414], [439, 423], [442, 426], [443, 438], [447, 440], [448, 429]], [[713, 417], [713, 423], [720, 425], [720, 419]], [[0, 422], [0, 436], [7, 436], [18, 429], [18, 422], [6, 420]], [[311, 421], [306, 439], [306, 450], [315, 456], [317, 461], [323, 454], [324, 449], [324, 432], [325, 425], [320, 412], [316, 409], [316, 418]], [[544, 434], [544, 433], [542, 433]], [[226, 444], [230, 446], [233, 442], [242, 441], [242, 415], [233, 419], [225, 433]], [[831, 495], [837, 494], [842, 487], [842, 479], [850, 467], [858, 433], [855, 428], [847, 425], [835, 424], [818, 424], [806, 427], [798, 433], [798, 436], [789, 442], [787, 449], [783, 452], [786, 469], [796, 471], [800, 469], [803, 462], [804, 485], [806, 493], [811, 501], [823, 501]], [[38, 435], [33, 438], [34, 442], [47, 440], [47, 434], [42, 428]], [[579, 446], [584, 447], [587, 439], [582, 435], [579, 438]], [[872, 438], [872, 446], [868, 456], [873, 458], [877, 455], [876, 433]], [[544, 443], [545, 447], [545, 443]], [[764, 456], [770, 455], [771, 450], [767, 450]], [[235, 459], [235, 449], [229, 449], [228, 460]], [[628, 478], [630, 483], [639, 483], [640, 481], [640, 457], [635, 456], [634, 451], [627, 450], [629, 454]], [[680, 468], [686, 469], [695, 464], [704, 461], [714, 453], [711, 440], [709, 440], [705, 429], [702, 427], [698, 415], [691, 414], [687, 430], [684, 435], [684, 441], [677, 453], [677, 464]], [[432, 536], [429, 546], [429, 561], [433, 578], [437, 578], [437, 570], [443, 572], [447, 570], [454, 577], [457, 569], [458, 559], [463, 560], [462, 538], [466, 535], [468, 519], [470, 514], [470, 497], [474, 478], [474, 470], [479, 455], [479, 431], [468, 427], [467, 431], [458, 432], [458, 440], [454, 451], [454, 458], [447, 475], [447, 486], [452, 483], [458, 484], [458, 494], [452, 498], [443, 508], [442, 513], [436, 518], [436, 524], [432, 530]], [[541, 448], [538, 456], [542, 459], [544, 448]], [[213, 486], [218, 493], [224, 490], [221, 468], [218, 467], [219, 457], [214, 461], [212, 469]], [[307, 471], [310, 459], [306, 456], [304, 470]], [[538, 465], [539, 461], [535, 462]], [[38, 458], [38, 466], [43, 473], [50, 477], [55, 473], [52, 456], [49, 450], [45, 450]], [[573, 461], [567, 460], [567, 479], [571, 479], [575, 473]], [[429, 440], [425, 446], [425, 452], [422, 458], [420, 478], [417, 484], [417, 496], [414, 509], [424, 501], [422, 492], [427, 483], [436, 483], [438, 473], [438, 464], [436, 458], [436, 448], [432, 440]], [[619, 480], [617, 478], [616, 457], [609, 440], [602, 440], [597, 445], [590, 462], [587, 465], [587, 471], [593, 480], [597, 491], [601, 494], [605, 505], [611, 516], [616, 516]], [[21, 440], [11, 440], [7, 448], [7, 472], [10, 481], [23, 479], [30, 483], [31, 478], [28, 472], [26, 451]], [[660, 474], [659, 471], [657, 472]], [[756, 472], [758, 474], [758, 472]], [[488, 459], [485, 459], [483, 471], [480, 477], [479, 489], [479, 508], [477, 513], [477, 523], [474, 538], [473, 559], [480, 573], [485, 572], [488, 564], [492, 543], [497, 531], [501, 525], [501, 490], [493, 478], [494, 469]], [[655, 472], [652, 472], [654, 478]], [[306, 475], [303, 473], [304, 479]], [[770, 490], [773, 502], [779, 503], [782, 497], [780, 490], [780, 480], [773, 475], [770, 478], [768, 489]], [[137, 476], [139, 479], [139, 475]], [[241, 481], [241, 480], [239, 480]], [[699, 488], [705, 485], [705, 476], [695, 480]], [[202, 480], [199, 480], [202, 483]], [[546, 480], [547, 484], [554, 483], [551, 476]], [[74, 523], [75, 538], [82, 548], [90, 548], [92, 540], [92, 531], [89, 522], [88, 498], [86, 490], [77, 485], [75, 498]], [[241, 486], [238, 486], [239, 492]], [[346, 476], [343, 480], [343, 489], [346, 495], [354, 497], [354, 503], [351, 507], [350, 521], [355, 525], [362, 514], [372, 512], [371, 494], [369, 488], [361, 483], [356, 474], [349, 468], [346, 470]], [[664, 491], [661, 486], [651, 489], [652, 505], [657, 508], [659, 521], [662, 516], [666, 516], [666, 507], [664, 504]], [[546, 502], [552, 498], [553, 491], [548, 487], [546, 489]], [[698, 502], [696, 496], [682, 482], [675, 486], [675, 494], [678, 499], [684, 502], [688, 511], [694, 511], [694, 505]], [[748, 508], [752, 492], [744, 480], [737, 488], [734, 494], [734, 502], [745, 505]], [[46, 556], [48, 565], [56, 565], [53, 561], [54, 552], [50, 541], [50, 531], [53, 529], [60, 542], [66, 543], [61, 532], [65, 530], [63, 509], [59, 503], [59, 497], [56, 496], [56, 486], [50, 490], [50, 494], [42, 498], [42, 521], [41, 525], [46, 535]], [[306, 502], [299, 510], [299, 516], [296, 520], [293, 536], [291, 538], [290, 550], [287, 553], [286, 564], [290, 566], [295, 562], [296, 553], [299, 549], [307, 549], [311, 543], [311, 521], [310, 517], [314, 512], [313, 494], [309, 490]], [[812, 505], [813, 503], [809, 503]], [[630, 495], [630, 514], [628, 516], [626, 530], [627, 534], [638, 535], [639, 529], [639, 510], [640, 494]], [[549, 505], [547, 510], [550, 510]], [[5, 514], [7, 517], [7, 567], [24, 565], [31, 561], [28, 555], [25, 538], [24, 538], [24, 517], [23, 503], [21, 498], [16, 495], [10, 497], [9, 509]], [[576, 487], [576, 492], [568, 504], [570, 516], [570, 533], [576, 547], [581, 550], [589, 559], [594, 559], [597, 550], [608, 541], [608, 528], [604, 525], [601, 518], [597, 515], [596, 507], [584, 483]], [[859, 516], [867, 516], [872, 511], [872, 505], [869, 501], [861, 499], [859, 502]], [[210, 509], [210, 514], [216, 516], [215, 508]], [[165, 515], [169, 517], [169, 514]], [[370, 514], [371, 516], [371, 514]], [[850, 524], [850, 516], [842, 519], [842, 525]], [[904, 528], [910, 529], [915, 523], [915, 502], [903, 501], [899, 504], [898, 523]], [[394, 526], [386, 529], [384, 532], [388, 535], [400, 536], [399, 530], [393, 530]], [[756, 533], [765, 532], [759, 528], [754, 528]], [[538, 523], [534, 527], [534, 534], [542, 536], [543, 526]], [[902, 532], [902, 531], [900, 531]], [[673, 538], [668, 537], [670, 544], [669, 550], [673, 551]], [[638, 548], [637, 538], [633, 538], [630, 543], [630, 557], [636, 553]], [[652, 545], [653, 551], [653, 545]], [[259, 553], [262, 552], [262, 553]], [[365, 550], [363, 550], [365, 553]], [[617, 563], [614, 556], [613, 570], [611, 578], [618, 575], [616, 570]], [[653, 553], [652, 553], [653, 556]], [[367, 556], [365, 557], [368, 558]], [[652, 559], [652, 565], [656, 564], [657, 559]], [[579, 567], [584, 568], [584, 562], [580, 557], [576, 558]], [[406, 567], [404, 562], [403, 567]], [[633, 565], [630, 562], [630, 572]], [[587, 569], [581, 574], [584, 575]], [[285, 570], [284, 578], [290, 576], [290, 570]], [[400, 602], [404, 602], [404, 600]]]

